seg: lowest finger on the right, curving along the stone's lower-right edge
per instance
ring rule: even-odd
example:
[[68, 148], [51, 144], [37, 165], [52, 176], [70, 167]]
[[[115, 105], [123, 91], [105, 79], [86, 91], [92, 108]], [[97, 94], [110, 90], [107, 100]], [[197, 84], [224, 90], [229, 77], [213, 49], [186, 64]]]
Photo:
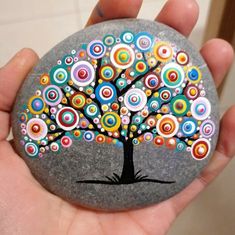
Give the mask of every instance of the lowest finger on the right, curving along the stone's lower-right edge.
[[230, 108], [221, 120], [221, 132], [216, 151], [210, 164], [185, 190], [169, 200], [175, 213], [179, 214], [217, 175], [235, 155], [235, 106]]

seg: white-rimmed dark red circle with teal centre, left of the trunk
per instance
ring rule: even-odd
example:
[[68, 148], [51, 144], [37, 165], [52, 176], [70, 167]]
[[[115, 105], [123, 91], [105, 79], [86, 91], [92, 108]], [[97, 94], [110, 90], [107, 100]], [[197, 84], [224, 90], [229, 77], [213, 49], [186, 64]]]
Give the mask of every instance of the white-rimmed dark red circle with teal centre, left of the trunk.
[[79, 116], [73, 108], [63, 107], [56, 115], [56, 122], [63, 130], [71, 131], [77, 127]]

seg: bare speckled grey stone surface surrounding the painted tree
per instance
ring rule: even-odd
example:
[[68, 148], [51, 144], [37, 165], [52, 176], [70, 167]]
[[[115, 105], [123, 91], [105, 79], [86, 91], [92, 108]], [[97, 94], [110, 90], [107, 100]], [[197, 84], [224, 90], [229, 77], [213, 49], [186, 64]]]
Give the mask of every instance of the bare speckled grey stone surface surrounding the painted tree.
[[[133, 163], [135, 173], [141, 176], [173, 183], [125, 182], [125, 183], [78, 183], [77, 181], [107, 181], [113, 173], [121, 176], [124, 164], [123, 148], [115, 144], [99, 144], [84, 139], [73, 140], [69, 148], [59, 152], [46, 151], [43, 157], [30, 158], [21, 144], [22, 127], [19, 115], [35, 95], [40, 77], [49, 73], [57, 61], [78, 50], [82, 44], [94, 39], [102, 40], [104, 35], [120, 37], [124, 31], [134, 34], [148, 32], [186, 51], [192, 65], [200, 68], [206, 97], [211, 103], [210, 119], [215, 124], [215, 133], [210, 137], [210, 153], [204, 160], [195, 160], [190, 151], [175, 151], [165, 145], [157, 147], [153, 141], [134, 145]], [[208, 164], [216, 146], [219, 132], [218, 98], [211, 74], [198, 51], [175, 30], [146, 20], [114, 20], [90, 26], [68, 37], [51, 49], [31, 71], [24, 82], [12, 113], [14, 143], [17, 152], [25, 160], [35, 178], [50, 192], [88, 208], [100, 210], [127, 210], [141, 208], [161, 202], [183, 190]], [[36, 141], [37, 142], [37, 141]], [[111, 182], [111, 181], [110, 181]]]

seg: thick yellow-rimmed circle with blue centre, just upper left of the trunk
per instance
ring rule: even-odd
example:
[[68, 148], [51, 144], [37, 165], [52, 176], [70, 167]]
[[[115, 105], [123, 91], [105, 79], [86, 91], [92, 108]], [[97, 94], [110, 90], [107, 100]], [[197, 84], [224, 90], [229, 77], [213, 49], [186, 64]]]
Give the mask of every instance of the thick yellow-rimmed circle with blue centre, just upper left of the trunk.
[[121, 119], [114, 112], [107, 112], [101, 118], [101, 125], [106, 131], [116, 131], [121, 125]]

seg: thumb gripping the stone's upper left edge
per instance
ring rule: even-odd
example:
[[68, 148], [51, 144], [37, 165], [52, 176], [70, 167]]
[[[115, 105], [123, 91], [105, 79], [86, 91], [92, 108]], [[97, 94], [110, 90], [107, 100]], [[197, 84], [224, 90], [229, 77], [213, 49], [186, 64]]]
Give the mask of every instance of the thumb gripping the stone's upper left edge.
[[9, 112], [21, 83], [38, 60], [31, 49], [18, 52], [0, 69], [0, 110]]

